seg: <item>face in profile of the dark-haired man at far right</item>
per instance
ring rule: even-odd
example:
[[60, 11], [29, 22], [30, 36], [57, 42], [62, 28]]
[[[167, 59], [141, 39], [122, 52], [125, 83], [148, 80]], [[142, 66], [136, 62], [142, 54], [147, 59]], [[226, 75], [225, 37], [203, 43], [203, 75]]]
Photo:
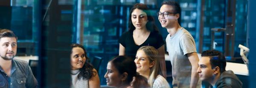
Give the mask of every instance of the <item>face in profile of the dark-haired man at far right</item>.
[[209, 57], [202, 57], [198, 62], [198, 74], [200, 77], [200, 80], [206, 80], [211, 81], [214, 78], [214, 69], [212, 69], [212, 66], [210, 64], [210, 58]]

